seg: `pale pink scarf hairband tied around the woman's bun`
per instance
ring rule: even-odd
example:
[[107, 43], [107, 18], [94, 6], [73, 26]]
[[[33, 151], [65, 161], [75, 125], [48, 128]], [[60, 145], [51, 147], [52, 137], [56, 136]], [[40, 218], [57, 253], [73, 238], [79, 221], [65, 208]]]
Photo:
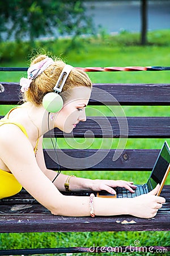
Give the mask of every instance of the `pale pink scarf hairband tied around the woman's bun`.
[[27, 92], [31, 82], [53, 63], [54, 61], [52, 58], [46, 57], [44, 60], [41, 60], [29, 67], [27, 71], [27, 78], [22, 77], [20, 79], [19, 84], [22, 86], [21, 91]]

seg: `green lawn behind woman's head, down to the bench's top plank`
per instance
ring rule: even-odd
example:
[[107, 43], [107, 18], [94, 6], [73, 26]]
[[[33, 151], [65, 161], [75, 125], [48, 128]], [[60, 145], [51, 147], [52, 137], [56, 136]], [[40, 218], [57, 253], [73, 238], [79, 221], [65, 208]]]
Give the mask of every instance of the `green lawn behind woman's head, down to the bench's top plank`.
[[[66, 63], [74, 65], [74, 67], [126, 67], [126, 66], [169, 66], [169, 37], [170, 30], [156, 31], [148, 33], [150, 45], [139, 46], [134, 45], [138, 42], [138, 34], [122, 34], [117, 36], [107, 36], [99, 38], [79, 39], [77, 47], [68, 51], [69, 40], [62, 39], [54, 42], [37, 42], [33, 52], [41, 50], [41, 47], [53, 55], [60, 56]], [[9, 45], [8, 45], [9, 44]], [[21, 44], [15, 47], [12, 43], [6, 43], [1, 46], [0, 65], [1, 67], [27, 67], [30, 56], [32, 55], [30, 47], [29, 51], [23, 52], [21, 49], [25, 47]], [[6, 55], [13, 52], [12, 57], [5, 55], [3, 57], [3, 49], [6, 47]], [[14, 49], [16, 50], [14, 51]], [[13, 49], [13, 51], [10, 51]], [[19, 52], [22, 52], [22, 54]], [[1, 72], [0, 81], [19, 81], [25, 72]], [[169, 82], [169, 72], [94, 72], [88, 73], [93, 82]]]

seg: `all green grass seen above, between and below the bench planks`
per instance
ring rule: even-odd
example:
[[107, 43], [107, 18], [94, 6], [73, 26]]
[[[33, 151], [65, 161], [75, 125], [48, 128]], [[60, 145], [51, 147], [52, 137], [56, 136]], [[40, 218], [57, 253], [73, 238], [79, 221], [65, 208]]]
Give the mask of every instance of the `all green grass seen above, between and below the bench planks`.
[[[69, 48], [69, 40], [57, 40], [55, 42], [36, 42], [35, 48], [43, 47], [47, 51], [53, 52], [54, 55], [61, 56], [67, 63], [75, 67], [125, 67], [125, 66], [168, 66], [169, 65], [169, 36], [170, 31], [155, 31], [148, 33], [148, 46], [138, 45], [138, 34], [128, 34], [124, 32], [117, 36], [102, 35], [98, 38], [84, 38], [77, 41], [77, 47]], [[1, 67], [27, 67], [28, 51], [23, 51], [22, 47], [12, 47], [10, 43], [6, 44], [8, 51], [0, 52]], [[1, 47], [1, 51], [3, 49]], [[10, 47], [12, 51], [10, 51]], [[27, 46], [24, 46], [25, 49]], [[16, 49], [15, 49], [16, 48]], [[15, 52], [18, 51], [18, 58]], [[10, 52], [10, 54], [9, 54]], [[25, 76], [25, 72], [1, 72], [1, 81], [18, 82], [20, 77]], [[134, 82], [134, 83], [169, 83], [169, 71], [161, 72], [96, 72], [88, 73], [92, 82]], [[1, 106], [0, 114], [5, 114], [11, 106]], [[169, 106], [122, 106], [126, 116], [142, 115], [142, 116], [167, 116], [169, 114]], [[100, 110], [104, 115], [113, 115], [113, 110], [105, 106], [101, 106]], [[95, 115], [96, 110], [87, 108], [87, 115]], [[98, 114], [98, 113], [97, 113]], [[112, 148], [117, 145], [116, 139], [113, 140]], [[126, 148], [160, 148], [164, 139], [128, 139]], [[170, 139], [167, 139], [170, 144]], [[77, 139], [76, 141], [66, 141], [58, 139], [59, 147], [68, 148], [72, 143], [73, 147], [77, 147], [79, 143], [83, 143]], [[49, 142], [44, 140], [47, 146]], [[89, 141], [86, 142], [90, 144]], [[108, 141], [104, 140], [103, 148], [107, 148]], [[100, 139], [95, 139], [92, 148], [99, 148]], [[50, 146], [49, 146], [50, 147]], [[68, 173], [68, 172], [67, 172]], [[70, 173], [69, 173], [70, 174]], [[91, 177], [94, 179], [94, 172], [76, 171], [71, 174], [83, 177]], [[146, 181], [147, 172], [97, 172], [97, 178], [101, 179], [127, 179], [134, 180], [135, 183], [143, 183]], [[169, 178], [167, 183], [169, 184]], [[61, 246], [134, 246], [134, 241], [139, 240], [141, 246], [163, 246], [169, 245], [169, 232], [85, 232], [85, 233], [24, 233], [24, 234], [1, 234], [0, 248], [14, 249], [27, 247], [61, 247]], [[78, 255], [78, 254], [75, 254]], [[88, 254], [79, 254], [88, 255]], [[102, 254], [104, 255], [104, 254]], [[120, 254], [118, 254], [120, 255]], [[127, 255], [131, 255], [128, 253]], [[133, 255], [139, 255], [134, 253]], [[143, 253], [143, 255], [151, 255], [151, 253]], [[161, 255], [161, 254], [156, 254]]]

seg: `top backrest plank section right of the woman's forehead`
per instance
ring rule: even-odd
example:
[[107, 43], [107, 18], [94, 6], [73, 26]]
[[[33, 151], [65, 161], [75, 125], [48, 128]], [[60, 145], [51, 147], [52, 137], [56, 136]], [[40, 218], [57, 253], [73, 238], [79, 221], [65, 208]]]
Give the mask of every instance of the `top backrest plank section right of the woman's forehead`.
[[[170, 84], [94, 84], [90, 104], [170, 105]], [[99, 101], [99, 102], [98, 102]]]

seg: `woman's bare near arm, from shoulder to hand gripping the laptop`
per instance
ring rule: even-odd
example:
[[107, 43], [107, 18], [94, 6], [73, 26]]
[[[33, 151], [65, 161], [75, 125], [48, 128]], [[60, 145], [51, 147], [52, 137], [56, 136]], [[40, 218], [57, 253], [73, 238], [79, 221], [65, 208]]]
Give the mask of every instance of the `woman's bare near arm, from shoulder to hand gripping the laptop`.
[[[15, 125], [1, 127], [0, 156], [20, 184], [53, 214], [90, 216], [89, 197], [63, 196], [37, 165], [31, 143]], [[155, 192], [154, 192], [155, 195]], [[131, 214], [154, 217], [163, 197], [144, 195], [135, 199], [103, 199], [95, 197], [94, 210], [99, 216]]]

